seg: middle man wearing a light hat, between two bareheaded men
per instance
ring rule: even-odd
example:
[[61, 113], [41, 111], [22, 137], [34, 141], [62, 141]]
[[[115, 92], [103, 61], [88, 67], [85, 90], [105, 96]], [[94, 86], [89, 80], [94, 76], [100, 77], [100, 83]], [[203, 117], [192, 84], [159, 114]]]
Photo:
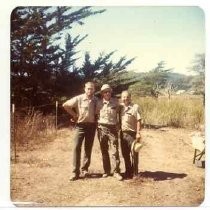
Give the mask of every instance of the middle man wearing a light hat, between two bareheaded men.
[[120, 175], [120, 158], [118, 146], [118, 114], [119, 103], [117, 99], [111, 97], [112, 88], [105, 84], [101, 88], [102, 99], [98, 101], [96, 113], [98, 115], [98, 137], [101, 147], [104, 174], [108, 177], [111, 174], [111, 163], [109, 150], [111, 150], [113, 176], [119, 181], [122, 180]]

